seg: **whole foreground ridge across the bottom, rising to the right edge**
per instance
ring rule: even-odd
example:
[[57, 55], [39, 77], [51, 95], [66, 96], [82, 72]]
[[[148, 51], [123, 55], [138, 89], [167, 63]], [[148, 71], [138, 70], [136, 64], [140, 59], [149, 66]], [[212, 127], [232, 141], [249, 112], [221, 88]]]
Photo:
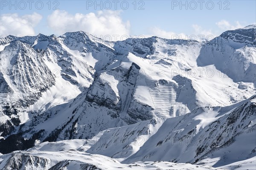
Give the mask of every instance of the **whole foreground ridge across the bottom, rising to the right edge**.
[[[12, 169], [250, 169], [256, 164], [256, 95], [104, 130], [92, 139], [43, 142], [0, 156]], [[122, 164], [121, 164], [121, 163]]]

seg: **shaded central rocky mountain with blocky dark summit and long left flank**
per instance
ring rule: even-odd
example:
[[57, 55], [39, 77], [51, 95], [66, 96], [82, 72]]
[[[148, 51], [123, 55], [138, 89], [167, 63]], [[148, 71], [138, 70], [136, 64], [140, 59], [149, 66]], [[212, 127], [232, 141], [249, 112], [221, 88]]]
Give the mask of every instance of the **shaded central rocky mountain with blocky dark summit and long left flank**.
[[[44, 129], [48, 141], [87, 139], [107, 128], [151, 119], [152, 108], [133, 97], [139, 69], [132, 63], [129, 69], [118, 67], [96, 75], [93, 84], [76, 99], [37, 114], [19, 132], [28, 137]], [[134, 113], [136, 109], [141, 111]], [[58, 124], [53, 123], [56, 121]]]

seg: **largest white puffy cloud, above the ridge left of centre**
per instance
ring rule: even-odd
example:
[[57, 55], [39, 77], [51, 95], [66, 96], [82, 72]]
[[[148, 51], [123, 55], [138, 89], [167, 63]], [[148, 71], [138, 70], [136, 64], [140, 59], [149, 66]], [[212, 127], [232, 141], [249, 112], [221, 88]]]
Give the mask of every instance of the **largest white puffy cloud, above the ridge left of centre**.
[[85, 31], [96, 37], [110, 35], [130, 36], [129, 21], [123, 22], [120, 11], [98, 11], [89, 14], [69, 14], [67, 11], [54, 11], [48, 16], [48, 25], [57, 34], [66, 32]]

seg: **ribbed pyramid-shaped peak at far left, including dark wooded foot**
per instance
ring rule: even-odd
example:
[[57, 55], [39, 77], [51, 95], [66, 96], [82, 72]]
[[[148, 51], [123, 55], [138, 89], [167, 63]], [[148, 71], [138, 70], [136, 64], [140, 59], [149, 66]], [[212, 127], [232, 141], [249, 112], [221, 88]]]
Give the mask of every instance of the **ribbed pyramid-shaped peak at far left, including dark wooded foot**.
[[55, 76], [45, 64], [43, 53], [18, 40], [10, 42], [0, 56], [0, 131], [8, 134], [12, 126], [2, 127], [2, 123], [7, 120], [18, 126], [27, 119], [25, 109], [55, 85]]

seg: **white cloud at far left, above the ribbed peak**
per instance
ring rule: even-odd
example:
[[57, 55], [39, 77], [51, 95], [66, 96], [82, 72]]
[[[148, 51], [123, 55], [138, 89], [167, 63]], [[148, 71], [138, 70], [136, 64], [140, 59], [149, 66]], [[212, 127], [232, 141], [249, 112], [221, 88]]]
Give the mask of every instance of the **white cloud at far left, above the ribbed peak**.
[[3, 14], [0, 17], [0, 34], [3, 35], [35, 35], [34, 27], [40, 22], [42, 16], [38, 13], [31, 15]]

